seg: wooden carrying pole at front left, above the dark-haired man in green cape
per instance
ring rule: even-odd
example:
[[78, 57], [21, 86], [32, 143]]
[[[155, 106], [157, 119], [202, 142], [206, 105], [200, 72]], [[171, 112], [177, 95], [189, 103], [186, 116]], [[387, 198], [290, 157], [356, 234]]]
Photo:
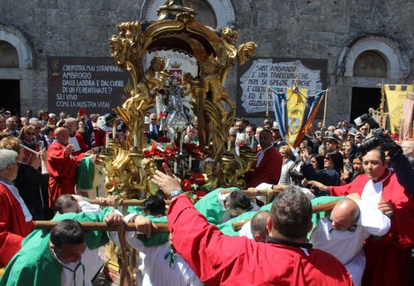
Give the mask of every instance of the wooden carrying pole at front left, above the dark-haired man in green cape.
[[[37, 220], [34, 229], [46, 229], [50, 230], [55, 227], [59, 222], [49, 220]], [[107, 225], [106, 222], [79, 222], [85, 231], [117, 231], [118, 226]], [[169, 232], [168, 224], [156, 223], [158, 229], [152, 229], [156, 232]], [[125, 231], [137, 231], [134, 222], [128, 222], [124, 224]]]

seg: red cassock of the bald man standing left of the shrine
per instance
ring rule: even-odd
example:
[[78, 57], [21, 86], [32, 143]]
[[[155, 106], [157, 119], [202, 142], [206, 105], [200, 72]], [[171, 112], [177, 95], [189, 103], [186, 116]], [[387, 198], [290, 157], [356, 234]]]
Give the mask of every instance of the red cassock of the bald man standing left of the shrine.
[[53, 207], [55, 200], [63, 193], [75, 194], [75, 174], [77, 164], [81, 162], [84, 153], [77, 156], [65, 154], [65, 146], [53, 142], [48, 148], [49, 169], [49, 207]]

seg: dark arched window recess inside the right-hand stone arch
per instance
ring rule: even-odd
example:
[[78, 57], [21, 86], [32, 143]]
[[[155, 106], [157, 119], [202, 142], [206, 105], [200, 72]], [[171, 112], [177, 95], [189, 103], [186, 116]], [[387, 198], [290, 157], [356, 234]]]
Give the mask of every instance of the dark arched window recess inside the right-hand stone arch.
[[379, 53], [367, 50], [355, 59], [353, 76], [386, 77], [386, 61]]

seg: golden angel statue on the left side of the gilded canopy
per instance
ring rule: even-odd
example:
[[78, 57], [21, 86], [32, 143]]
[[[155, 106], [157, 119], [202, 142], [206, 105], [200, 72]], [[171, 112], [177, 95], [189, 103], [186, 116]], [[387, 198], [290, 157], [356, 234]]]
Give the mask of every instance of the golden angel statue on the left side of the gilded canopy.
[[[138, 93], [134, 94], [134, 91], [131, 90], [130, 99], [128, 99], [122, 107], [127, 111], [133, 109], [141, 110], [153, 102], [156, 95], [156, 90], [154, 89], [164, 88], [166, 77], [168, 77], [168, 73], [163, 71], [164, 66], [164, 59], [161, 59], [161, 57], [158, 56], [154, 57], [150, 67], [145, 71], [143, 79], [137, 86]], [[157, 77], [157, 73], [159, 73], [159, 77]]]

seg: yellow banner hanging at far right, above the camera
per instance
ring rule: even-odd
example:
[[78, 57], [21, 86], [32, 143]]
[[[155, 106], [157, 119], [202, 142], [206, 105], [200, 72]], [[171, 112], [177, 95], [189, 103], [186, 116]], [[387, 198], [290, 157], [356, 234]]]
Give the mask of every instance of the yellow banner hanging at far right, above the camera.
[[386, 105], [388, 106], [388, 115], [390, 117], [391, 133], [400, 134], [402, 108], [405, 100], [409, 96], [407, 93], [413, 91], [413, 86], [405, 84], [384, 84], [384, 90]]

